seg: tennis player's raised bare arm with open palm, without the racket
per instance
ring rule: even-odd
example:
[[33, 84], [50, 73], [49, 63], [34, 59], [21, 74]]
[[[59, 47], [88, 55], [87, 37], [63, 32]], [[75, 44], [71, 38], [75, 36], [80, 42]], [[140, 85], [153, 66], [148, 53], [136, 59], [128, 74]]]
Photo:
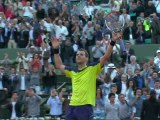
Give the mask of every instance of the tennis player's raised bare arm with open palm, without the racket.
[[63, 65], [61, 57], [59, 55], [60, 40], [56, 38], [52, 38], [51, 42], [54, 50], [53, 52], [54, 52], [55, 67], [61, 70], [62, 73], [65, 73], [65, 66]]

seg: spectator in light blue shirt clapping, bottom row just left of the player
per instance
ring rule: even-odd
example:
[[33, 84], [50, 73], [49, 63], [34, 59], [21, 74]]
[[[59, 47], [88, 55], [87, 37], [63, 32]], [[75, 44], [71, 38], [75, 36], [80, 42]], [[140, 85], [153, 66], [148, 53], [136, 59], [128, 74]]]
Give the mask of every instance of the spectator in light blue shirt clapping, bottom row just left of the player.
[[47, 105], [49, 105], [50, 107], [50, 115], [52, 119], [61, 118], [63, 101], [63, 91], [61, 91], [58, 95], [57, 91], [55, 89], [52, 89], [51, 95], [47, 101]]

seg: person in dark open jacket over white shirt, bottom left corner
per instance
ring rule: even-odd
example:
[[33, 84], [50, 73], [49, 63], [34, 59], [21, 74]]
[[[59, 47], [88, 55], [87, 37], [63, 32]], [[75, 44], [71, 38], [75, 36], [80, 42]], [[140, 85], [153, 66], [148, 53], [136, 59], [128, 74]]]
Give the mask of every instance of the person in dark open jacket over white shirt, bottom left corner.
[[11, 100], [8, 103], [7, 108], [9, 110], [10, 119], [16, 119], [22, 116], [22, 102], [18, 101], [18, 92], [12, 92]]

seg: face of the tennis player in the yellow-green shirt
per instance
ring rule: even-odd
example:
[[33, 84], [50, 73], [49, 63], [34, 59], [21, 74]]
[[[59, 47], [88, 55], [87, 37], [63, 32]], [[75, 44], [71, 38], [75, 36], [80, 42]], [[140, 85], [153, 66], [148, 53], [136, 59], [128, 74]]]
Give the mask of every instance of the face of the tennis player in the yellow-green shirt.
[[86, 54], [84, 51], [78, 51], [76, 54], [76, 62], [77, 64], [83, 64], [87, 63], [88, 57], [86, 57]]

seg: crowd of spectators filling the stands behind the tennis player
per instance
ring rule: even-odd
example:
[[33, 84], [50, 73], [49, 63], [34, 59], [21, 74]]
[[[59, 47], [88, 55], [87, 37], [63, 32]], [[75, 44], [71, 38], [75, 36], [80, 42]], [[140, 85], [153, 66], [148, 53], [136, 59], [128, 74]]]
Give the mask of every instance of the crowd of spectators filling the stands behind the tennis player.
[[[158, 120], [160, 50], [149, 61], [138, 63], [131, 46], [145, 44], [146, 39], [160, 43], [160, 1], [101, 2], [124, 23], [122, 37], [127, 42], [125, 51], [117, 42], [110, 63], [97, 78], [94, 118]], [[61, 40], [60, 55], [67, 66], [75, 65], [80, 48], [88, 51], [90, 62], [98, 61], [112, 38], [105, 25], [108, 13], [95, 9], [100, 5], [94, 0], [85, 3], [81, 10], [69, 0], [0, 0], [0, 48], [28, 49], [27, 53], [18, 52], [16, 60], [7, 53], [0, 60], [0, 118], [4, 104], [9, 119], [39, 117], [42, 94], [50, 96], [46, 104], [51, 117], [61, 117], [65, 89], [56, 91], [51, 37]]]

